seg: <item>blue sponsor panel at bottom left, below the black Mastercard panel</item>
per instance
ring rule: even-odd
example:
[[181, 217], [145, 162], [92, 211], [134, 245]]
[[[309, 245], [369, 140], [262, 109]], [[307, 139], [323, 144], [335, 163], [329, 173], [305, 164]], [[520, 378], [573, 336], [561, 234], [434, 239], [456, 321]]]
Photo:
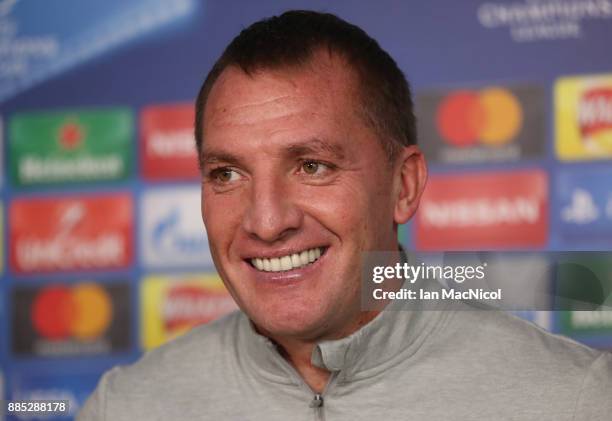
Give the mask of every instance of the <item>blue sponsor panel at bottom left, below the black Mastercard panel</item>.
[[[73, 419], [87, 397], [94, 391], [100, 375], [93, 372], [76, 374], [30, 374], [14, 372], [10, 383], [10, 400], [68, 401], [68, 413], [52, 419]], [[41, 419], [40, 417], [19, 416], [18, 419]], [[47, 418], [43, 418], [47, 419]]]

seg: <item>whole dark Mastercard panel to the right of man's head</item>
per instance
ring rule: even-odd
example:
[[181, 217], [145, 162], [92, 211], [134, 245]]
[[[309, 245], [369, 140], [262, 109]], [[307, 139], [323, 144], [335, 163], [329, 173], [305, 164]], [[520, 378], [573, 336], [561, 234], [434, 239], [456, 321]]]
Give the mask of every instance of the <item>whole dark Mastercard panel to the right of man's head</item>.
[[434, 161], [473, 163], [543, 154], [544, 95], [537, 87], [489, 86], [417, 96], [423, 149]]

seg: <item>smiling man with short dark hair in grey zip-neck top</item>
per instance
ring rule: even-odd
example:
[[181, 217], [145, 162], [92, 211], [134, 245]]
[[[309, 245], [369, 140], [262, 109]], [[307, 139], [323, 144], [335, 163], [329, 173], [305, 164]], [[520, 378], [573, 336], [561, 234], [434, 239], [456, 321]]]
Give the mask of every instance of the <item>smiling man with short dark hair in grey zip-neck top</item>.
[[496, 312], [362, 310], [364, 253], [397, 251], [426, 167], [405, 78], [361, 29], [255, 23], [196, 106], [202, 216], [242, 312], [111, 370], [79, 419], [612, 419], [610, 355]]

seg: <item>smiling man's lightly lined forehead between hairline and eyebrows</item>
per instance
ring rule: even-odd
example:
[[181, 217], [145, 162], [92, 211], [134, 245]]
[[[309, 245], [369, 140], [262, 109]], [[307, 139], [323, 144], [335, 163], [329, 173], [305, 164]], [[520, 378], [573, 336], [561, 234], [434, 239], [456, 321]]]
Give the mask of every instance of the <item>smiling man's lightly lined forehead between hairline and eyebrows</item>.
[[204, 130], [251, 125], [300, 114], [354, 114], [357, 78], [346, 61], [327, 52], [315, 53], [299, 67], [262, 69], [246, 74], [226, 68], [210, 91]]

